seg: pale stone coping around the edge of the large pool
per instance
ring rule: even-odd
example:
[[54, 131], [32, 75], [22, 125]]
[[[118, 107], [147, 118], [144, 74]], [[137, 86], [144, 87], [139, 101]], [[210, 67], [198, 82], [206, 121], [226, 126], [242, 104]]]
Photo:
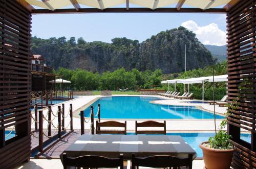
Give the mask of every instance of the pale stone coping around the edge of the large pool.
[[[160, 100], [164, 100], [163, 98], [160, 98], [160, 96], [156, 96], [156, 95], [152, 95], [152, 96], [150, 96], [150, 95], [106, 95], [106, 96], [104, 96], [104, 95], [99, 95], [97, 98], [95, 98], [95, 99], [93, 99], [93, 100], [91, 100], [90, 102], [88, 102], [88, 103], [86, 103], [86, 104], [84, 104], [83, 106], [81, 106], [80, 108], [78, 108], [78, 109], [76, 109], [76, 110], [74, 110], [74, 112], [73, 112], [73, 117], [75, 117], [75, 118], [80, 118], [80, 115], [79, 115], [79, 113], [80, 113], [80, 111], [82, 111], [82, 110], [85, 110], [85, 109], [87, 109], [90, 105], [92, 105], [94, 102], [96, 102], [97, 100], [99, 100], [100, 98], [106, 98], [106, 97], [118, 97], [118, 96], [144, 96], [144, 97], [152, 97], [152, 98], [159, 98]], [[77, 98], [76, 98], [77, 99]], [[150, 101], [150, 103], [151, 104], [158, 104], [158, 105], [166, 105], [166, 104], [159, 104], [159, 103], [152, 103], [152, 102], [154, 102], [154, 100], [153, 101]], [[176, 105], [176, 106], [179, 106], [179, 105]], [[207, 110], [207, 109], [204, 109], [202, 106], [194, 106], [194, 107], [196, 107], [196, 108], [198, 108], [198, 109], [200, 109], [200, 110], [203, 110], [203, 111], [207, 111], [207, 112], [209, 112], [209, 113], [212, 113], [212, 114], [214, 114], [214, 112], [213, 111], [210, 111], [210, 110]], [[218, 114], [218, 115], [220, 115], [220, 116], [223, 116], [223, 117], [225, 117], [225, 115], [224, 114], [221, 114], [221, 113], [218, 113], [218, 112], [216, 112], [216, 114]], [[89, 119], [89, 117], [84, 117], [85, 119]], [[138, 118], [100, 118], [100, 119], [102, 119], [102, 120], [125, 120], [125, 121], [127, 121], [127, 120], [137, 120], [137, 121], [140, 121], [140, 120], [142, 120], [142, 121], [145, 121], [145, 120], [190, 120], [190, 121], [193, 121], [193, 120], [196, 120], [196, 121], [198, 121], [198, 120], [214, 120], [214, 118], [205, 118], [205, 119], [195, 119], [195, 118], [191, 118], [191, 119], [181, 119], [181, 118], [172, 118], [172, 119], [169, 119], [169, 118], [140, 118], [140, 119], [138, 119]], [[221, 118], [221, 119], [216, 119], [216, 120], [223, 120], [224, 118]]]

